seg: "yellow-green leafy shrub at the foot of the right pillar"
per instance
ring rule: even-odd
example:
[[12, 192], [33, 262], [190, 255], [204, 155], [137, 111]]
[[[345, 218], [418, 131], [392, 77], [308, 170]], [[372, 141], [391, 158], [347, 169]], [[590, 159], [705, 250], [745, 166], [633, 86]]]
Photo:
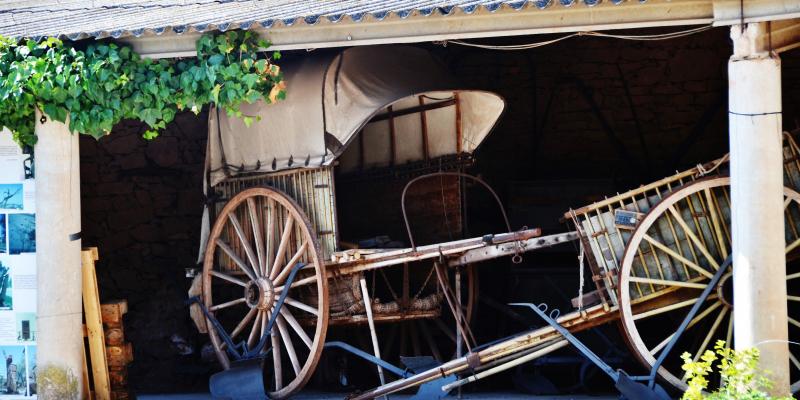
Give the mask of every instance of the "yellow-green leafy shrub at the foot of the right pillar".
[[[706, 350], [697, 361], [689, 353], [681, 355], [686, 372], [688, 389], [682, 400], [790, 400], [793, 397], [771, 397], [767, 391], [772, 382], [767, 373], [759, 371], [759, 351], [756, 348], [737, 351], [719, 340], [714, 350]], [[708, 376], [719, 373], [720, 385], [716, 391], [707, 392]]]

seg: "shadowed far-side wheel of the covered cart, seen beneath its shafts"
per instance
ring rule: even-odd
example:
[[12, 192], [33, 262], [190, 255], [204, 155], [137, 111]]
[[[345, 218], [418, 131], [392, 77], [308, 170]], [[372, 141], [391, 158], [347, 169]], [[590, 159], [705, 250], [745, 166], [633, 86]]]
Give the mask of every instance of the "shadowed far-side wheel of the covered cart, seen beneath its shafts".
[[[408, 311], [408, 319], [380, 327], [381, 356], [395, 363], [399, 363], [400, 357], [411, 356], [432, 356], [439, 362], [447, 362], [455, 358], [457, 349], [458, 332], [453, 311], [441, 287], [438, 287], [433, 266], [418, 265], [411, 268], [418, 268], [424, 274], [411, 274], [406, 287], [400, 287], [400, 283], [403, 282], [400, 279], [386, 280], [384, 283], [387, 286], [389, 283], [397, 286], [391, 292], [395, 293], [401, 303], [404, 301], [403, 298], [406, 298], [409, 308], [427, 308], [427, 310]], [[467, 323], [471, 323], [478, 291], [478, 274], [475, 267], [473, 265], [461, 267], [458, 278], [456, 268], [442, 267], [441, 271], [447, 274], [447, 282], [453, 295], [458, 296], [456, 293], [460, 293], [461, 312]], [[417, 279], [414, 279], [413, 275], [417, 275]], [[378, 290], [380, 289], [383, 288], [378, 286]], [[426, 303], [430, 303], [430, 306]], [[414, 307], [414, 304], [422, 307]], [[467, 346], [464, 344], [462, 346], [463, 354], [466, 354]]]

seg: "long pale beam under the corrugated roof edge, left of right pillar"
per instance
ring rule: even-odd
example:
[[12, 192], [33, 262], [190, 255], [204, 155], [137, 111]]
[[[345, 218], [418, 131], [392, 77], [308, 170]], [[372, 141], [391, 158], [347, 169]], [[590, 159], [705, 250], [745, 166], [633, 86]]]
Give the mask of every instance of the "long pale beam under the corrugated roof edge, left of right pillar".
[[[737, 0], [738, 1], [738, 0]], [[757, 0], [765, 1], [767, 0]], [[786, 0], [788, 3], [791, 0]], [[320, 19], [313, 25], [296, 23], [290, 26], [255, 28], [273, 43], [272, 49], [316, 49], [325, 47], [362, 46], [389, 43], [418, 43], [452, 39], [474, 39], [531, 34], [600, 31], [703, 25], [715, 22], [712, 0], [649, 0], [646, 3], [626, 1], [614, 4], [605, 1], [595, 6], [550, 7], [521, 10], [485, 9], [467, 14], [453, 11], [450, 15], [400, 18], [389, 15], [377, 20], [330, 22]], [[164, 33], [160, 36], [127, 37], [129, 43], [146, 57], [191, 57], [200, 33]]]

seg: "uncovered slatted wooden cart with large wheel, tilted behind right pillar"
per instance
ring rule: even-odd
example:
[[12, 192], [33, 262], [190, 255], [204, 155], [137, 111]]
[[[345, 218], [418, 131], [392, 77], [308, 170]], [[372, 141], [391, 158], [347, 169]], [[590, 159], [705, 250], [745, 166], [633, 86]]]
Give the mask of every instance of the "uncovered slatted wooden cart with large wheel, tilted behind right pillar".
[[[800, 150], [784, 140], [784, 209], [790, 340], [800, 339]], [[632, 353], [647, 367], [675, 334], [713, 273], [731, 254], [727, 156], [677, 173], [565, 216], [577, 227], [597, 291], [586, 297], [618, 313]], [[732, 268], [732, 267], [730, 267]], [[730, 269], [729, 268], [729, 269]], [[691, 321], [659, 376], [685, 389], [680, 355], [697, 361], [717, 340], [733, 343], [732, 273], [723, 275]], [[618, 311], [617, 311], [618, 310]], [[789, 354], [792, 392], [800, 389], [800, 362]]]

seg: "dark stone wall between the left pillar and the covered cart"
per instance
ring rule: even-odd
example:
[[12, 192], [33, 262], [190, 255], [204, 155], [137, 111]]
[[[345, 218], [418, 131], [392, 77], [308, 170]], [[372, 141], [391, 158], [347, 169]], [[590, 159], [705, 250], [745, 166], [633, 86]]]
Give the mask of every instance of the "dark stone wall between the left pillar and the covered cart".
[[209, 367], [180, 355], [173, 335], [197, 338], [184, 301], [202, 213], [206, 115], [180, 114], [157, 140], [125, 122], [99, 141], [81, 138], [83, 244], [98, 246], [102, 300], [127, 299], [125, 334], [133, 343], [136, 390], [207, 387]]

